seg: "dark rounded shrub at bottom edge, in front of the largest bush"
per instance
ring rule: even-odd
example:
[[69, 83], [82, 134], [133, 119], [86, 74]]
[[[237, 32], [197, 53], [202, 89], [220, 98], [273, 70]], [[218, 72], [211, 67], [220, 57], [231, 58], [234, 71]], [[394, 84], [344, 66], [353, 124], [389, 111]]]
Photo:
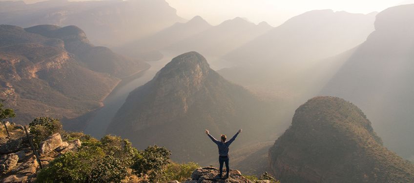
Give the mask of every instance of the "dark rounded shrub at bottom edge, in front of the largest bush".
[[106, 155], [104, 160], [89, 174], [89, 183], [120, 183], [128, 174], [124, 163], [111, 155]]

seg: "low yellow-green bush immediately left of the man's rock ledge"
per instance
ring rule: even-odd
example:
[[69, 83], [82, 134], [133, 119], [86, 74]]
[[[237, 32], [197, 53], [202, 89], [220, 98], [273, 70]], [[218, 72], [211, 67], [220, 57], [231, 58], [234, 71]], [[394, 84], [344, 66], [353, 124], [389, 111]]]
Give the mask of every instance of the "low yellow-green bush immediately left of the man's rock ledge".
[[183, 182], [187, 178], [191, 177], [191, 174], [195, 169], [200, 167], [197, 163], [169, 163], [163, 169], [161, 178], [157, 179], [158, 182], [166, 183], [168, 181], [176, 180]]

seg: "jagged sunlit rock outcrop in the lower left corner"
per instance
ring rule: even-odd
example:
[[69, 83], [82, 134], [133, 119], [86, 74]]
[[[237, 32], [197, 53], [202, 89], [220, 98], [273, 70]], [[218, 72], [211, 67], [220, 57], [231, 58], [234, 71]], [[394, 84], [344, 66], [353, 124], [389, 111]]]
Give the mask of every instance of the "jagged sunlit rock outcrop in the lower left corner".
[[[0, 138], [0, 183], [29, 183], [40, 170], [24, 131], [16, 126], [8, 126], [11, 138]], [[79, 140], [62, 142], [59, 133], [53, 134], [41, 142], [41, 164], [47, 166], [56, 157], [80, 146]]]

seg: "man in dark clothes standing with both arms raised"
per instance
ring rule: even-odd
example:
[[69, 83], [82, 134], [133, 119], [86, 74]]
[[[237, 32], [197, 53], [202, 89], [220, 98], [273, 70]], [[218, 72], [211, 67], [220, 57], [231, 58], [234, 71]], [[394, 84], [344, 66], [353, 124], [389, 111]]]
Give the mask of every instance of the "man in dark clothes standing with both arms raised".
[[230, 168], [228, 165], [228, 146], [230, 146], [230, 144], [236, 139], [237, 135], [239, 135], [240, 132], [242, 132], [242, 129], [240, 129], [229, 141], [226, 141], [226, 135], [221, 135], [221, 141], [217, 141], [213, 136], [210, 135], [209, 131], [206, 130], [208, 137], [211, 139], [211, 141], [216, 143], [217, 147], [219, 148], [220, 178], [223, 177], [223, 163], [226, 163], [226, 177], [224, 177], [224, 179], [228, 179], [230, 173]]

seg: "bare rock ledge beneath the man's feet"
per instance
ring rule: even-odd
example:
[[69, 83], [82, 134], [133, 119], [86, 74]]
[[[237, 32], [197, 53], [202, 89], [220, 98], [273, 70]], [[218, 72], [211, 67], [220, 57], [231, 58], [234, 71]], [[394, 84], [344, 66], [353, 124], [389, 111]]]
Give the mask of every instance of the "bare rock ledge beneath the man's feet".
[[[197, 168], [191, 174], [191, 181], [184, 183], [252, 183], [242, 176], [239, 170], [230, 170], [228, 179], [219, 179], [219, 169], [215, 167]], [[225, 173], [223, 172], [223, 175]]]

